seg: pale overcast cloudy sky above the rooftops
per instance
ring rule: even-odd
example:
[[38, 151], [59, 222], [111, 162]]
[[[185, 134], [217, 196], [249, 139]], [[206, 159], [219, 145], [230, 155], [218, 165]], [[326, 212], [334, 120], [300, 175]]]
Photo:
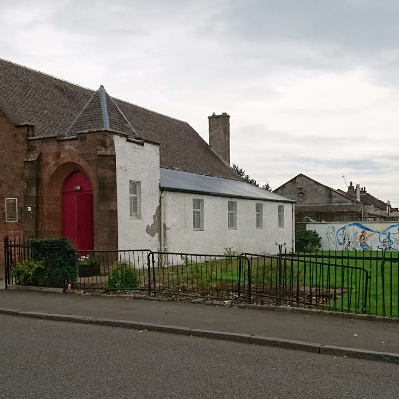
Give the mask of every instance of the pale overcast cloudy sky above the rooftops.
[[0, 0], [0, 58], [187, 121], [230, 160], [399, 206], [399, 1]]

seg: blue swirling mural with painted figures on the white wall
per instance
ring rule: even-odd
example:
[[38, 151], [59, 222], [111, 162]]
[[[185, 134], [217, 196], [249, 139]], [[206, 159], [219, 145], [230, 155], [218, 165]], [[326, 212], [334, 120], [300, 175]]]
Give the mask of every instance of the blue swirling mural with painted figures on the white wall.
[[383, 229], [372, 229], [362, 223], [349, 223], [336, 229], [328, 226], [329, 249], [343, 251], [399, 251], [399, 223]]

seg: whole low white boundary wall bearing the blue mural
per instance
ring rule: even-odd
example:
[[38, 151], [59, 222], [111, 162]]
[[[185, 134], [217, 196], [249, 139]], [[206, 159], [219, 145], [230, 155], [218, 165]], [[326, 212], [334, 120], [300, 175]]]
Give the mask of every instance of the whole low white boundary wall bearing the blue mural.
[[323, 250], [399, 251], [399, 222], [307, 223], [322, 237]]

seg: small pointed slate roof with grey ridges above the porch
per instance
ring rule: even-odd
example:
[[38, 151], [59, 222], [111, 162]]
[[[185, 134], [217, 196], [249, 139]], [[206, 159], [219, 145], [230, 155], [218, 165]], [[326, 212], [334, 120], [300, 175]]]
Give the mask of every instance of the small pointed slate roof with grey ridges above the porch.
[[111, 131], [122, 133], [134, 139], [140, 139], [126, 116], [115, 101], [105, 91], [104, 86], [90, 97], [65, 136], [75, 136], [78, 133]]

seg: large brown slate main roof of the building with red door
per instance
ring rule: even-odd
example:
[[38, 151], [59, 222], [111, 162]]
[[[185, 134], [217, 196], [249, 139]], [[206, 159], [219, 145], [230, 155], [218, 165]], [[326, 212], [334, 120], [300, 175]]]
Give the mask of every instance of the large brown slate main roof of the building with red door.
[[[101, 119], [101, 115], [95, 115], [94, 108], [91, 113], [90, 108], [87, 109], [90, 99], [91, 105], [101, 101], [93, 94], [93, 90], [0, 59], [0, 110], [15, 125], [33, 125], [36, 137], [74, 135], [101, 128], [98, 124], [90, 126], [92, 117]], [[106, 104], [111, 108], [110, 126], [131, 137], [160, 143], [162, 168], [241, 180], [187, 122], [115, 98], [107, 99]], [[114, 105], [126, 116], [137, 136], [129, 124], [123, 122]]]

